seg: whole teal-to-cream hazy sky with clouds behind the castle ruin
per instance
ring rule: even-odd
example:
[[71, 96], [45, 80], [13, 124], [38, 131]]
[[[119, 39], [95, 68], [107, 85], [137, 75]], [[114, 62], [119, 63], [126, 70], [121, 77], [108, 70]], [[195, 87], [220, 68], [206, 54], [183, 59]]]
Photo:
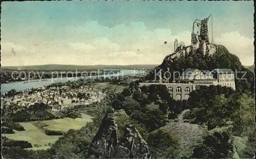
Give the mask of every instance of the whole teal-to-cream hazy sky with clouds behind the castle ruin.
[[209, 14], [215, 43], [253, 64], [252, 1], [120, 0], [2, 2], [1, 64], [161, 64]]

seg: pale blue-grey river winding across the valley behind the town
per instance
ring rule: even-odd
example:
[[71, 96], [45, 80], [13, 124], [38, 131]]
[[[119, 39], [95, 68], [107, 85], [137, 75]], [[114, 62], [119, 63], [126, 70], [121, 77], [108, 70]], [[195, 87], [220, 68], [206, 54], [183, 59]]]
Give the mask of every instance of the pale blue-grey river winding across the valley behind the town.
[[[117, 77], [117, 76], [125, 76], [125, 75], [136, 75], [141, 74], [143, 71], [140, 70], [120, 70], [119, 73], [116, 74], [109, 74], [109, 75], [96, 75], [96, 76], [88, 76], [83, 77], [83, 79], [94, 79], [97, 77]], [[58, 83], [58, 82], [68, 82], [68, 81], [75, 81], [80, 79], [81, 77], [65, 77], [65, 78], [50, 78], [50, 79], [39, 79], [39, 80], [30, 80], [29, 82], [14, 82], [14, 83], [4, 83], [1, 84], [1, 93], [8, 92], [11, 89], [15, 89], [17, 91], [23, 91], [25, 89], [35, 88], [38, 86], [47, 86], [52, 83]]]

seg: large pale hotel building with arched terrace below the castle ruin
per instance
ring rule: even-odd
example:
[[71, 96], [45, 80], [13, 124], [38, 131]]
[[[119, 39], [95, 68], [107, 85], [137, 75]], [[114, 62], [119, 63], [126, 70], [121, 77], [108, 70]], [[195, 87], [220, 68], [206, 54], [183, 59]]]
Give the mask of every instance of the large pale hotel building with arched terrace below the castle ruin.
[[[160, 79], [162, 78], [160, 77]], [[188, 99], [190, 92], [200, 85], [221, 85], [236, 90], [234, 72], [230, 69], [215, 69], [213, 71], [187, 69], [174, 83], [162, 83], [160, 80], [159, 83], [139, 83], [139, 86], [149, 86], [151, 84], [165, 85], [168, 93], [175, 100]]]

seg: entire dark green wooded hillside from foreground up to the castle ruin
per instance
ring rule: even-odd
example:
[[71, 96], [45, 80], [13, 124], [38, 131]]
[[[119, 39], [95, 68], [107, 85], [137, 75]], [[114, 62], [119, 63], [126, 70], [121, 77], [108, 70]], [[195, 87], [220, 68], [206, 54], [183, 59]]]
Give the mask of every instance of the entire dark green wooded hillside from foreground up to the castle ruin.
[[[154, 80], [155, 72], [152, 71], [144, 79], [131, 82], [122, 92], [110, 94], [104, 101], [95, 104], [94, 109], [88, 112], [94, 117], [93, 122], [80, 130], [64, 133], [50, 149], [33, 151], [22, 147], [5, 147], [2, 150], [3, 156], [87, 158], [98, 156], [100, 153], [112, 157], [109, 147], [97, 147], [97, 137], [100, 137], [101, 141], [110, 141], [108, 144], [111, 147], [111, 142], [118, 143], [117, 141], [124, 140], [123, 137], [127, 134], [131, 134], [125, 132], [130, 128], [136, 130], [132, 134], [141, 135], [137, 138], [139, 141], [145, 140], [143, 144], [148, 146], [149, 151], [146, 151], [147, 157], [252, 158], [255, 153], [254, 74], [241, 64], [236, 55], [230, 54], [220, 45], [212, 55], [203, 55], [198, 49], [179, 58], [170, 56], [155, 69], [167, 71], [169, 68], [173, 73], [182, 72], [189, 67], [209, 71], [230, 68], [237, 75], [236, 91], [220, 85], [200, 86], [190, 92], [188, 100], [176, 101], [170, 97], [165, 85], [139, 87], [139, 81]], [[240, 79], [241, 77], [245, 79]], [[110, 118], [112, 124], [111, 127], [103, 129], [111, 132], [112, 128], [116, 130], [113, 133], [115, 137], [108, 135], [106, 139], [105, 131], [102, 131], [100, 125], [102, 120], [105, 122], [104, 116], [108, 113], [113, 113], [113, 118]], [[14, 123], [11, 125], [13, 128], [19, 128]], [[117, 130], [118, 134], [115, 133]], [[245, 142], [241, 143], [238, 139]], [[140, 155], [139, 149], [135, 152]], [[127, 152], [113, 154], [117, 153], [118, 156], [127, 156]], [[132, 155], [129, 157], [132, 158], [133, 153], [130, 154]]]

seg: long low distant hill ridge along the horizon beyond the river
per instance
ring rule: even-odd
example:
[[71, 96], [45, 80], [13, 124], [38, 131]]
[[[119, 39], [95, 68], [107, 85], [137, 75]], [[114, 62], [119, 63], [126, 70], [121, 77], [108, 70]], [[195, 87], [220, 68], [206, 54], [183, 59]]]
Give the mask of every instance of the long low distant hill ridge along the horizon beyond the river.
[[[138, 64], [138, 65], [30, 65], [22, 66], [21, 70], [92, 70], [92, 69], [154, 69], [157, 64]], [[1, 70], [17, 70], [17, 66], [2, 66]]]

